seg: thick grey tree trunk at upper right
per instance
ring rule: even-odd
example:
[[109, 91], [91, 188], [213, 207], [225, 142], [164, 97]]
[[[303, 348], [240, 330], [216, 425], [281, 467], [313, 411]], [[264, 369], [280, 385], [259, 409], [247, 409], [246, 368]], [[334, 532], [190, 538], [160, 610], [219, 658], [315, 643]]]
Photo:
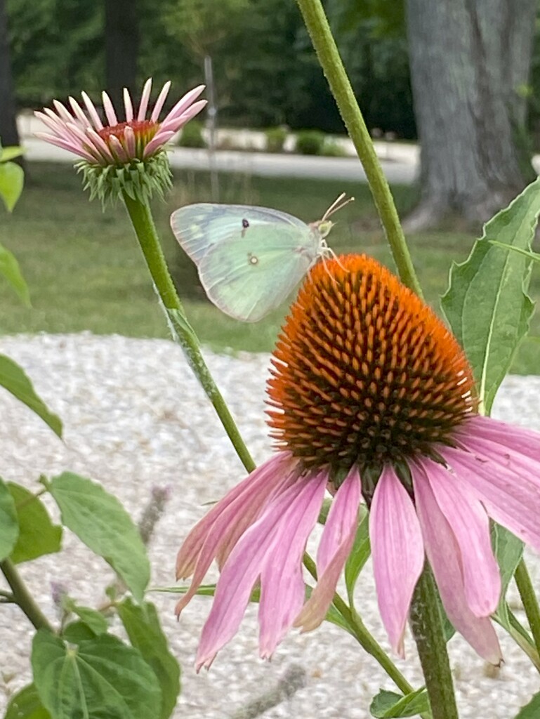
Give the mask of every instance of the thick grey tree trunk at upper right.
[[534, 177], [520, 90], [535, 14], [536, 0], [407, 0], [422, 191], [408, 229], [485, 221]]

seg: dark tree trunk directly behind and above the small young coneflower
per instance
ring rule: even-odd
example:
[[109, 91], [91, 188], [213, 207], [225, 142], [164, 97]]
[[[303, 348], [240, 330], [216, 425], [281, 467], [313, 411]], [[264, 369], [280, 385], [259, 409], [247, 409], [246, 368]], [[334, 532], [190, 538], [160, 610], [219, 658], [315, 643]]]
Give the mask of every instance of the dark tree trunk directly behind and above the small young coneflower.
[[132, 97], [136, 94], [138, 51], [137, 1], [105, 0], [106, 83], [109, 96], [117, 109], [124, 104], [124, 87]]

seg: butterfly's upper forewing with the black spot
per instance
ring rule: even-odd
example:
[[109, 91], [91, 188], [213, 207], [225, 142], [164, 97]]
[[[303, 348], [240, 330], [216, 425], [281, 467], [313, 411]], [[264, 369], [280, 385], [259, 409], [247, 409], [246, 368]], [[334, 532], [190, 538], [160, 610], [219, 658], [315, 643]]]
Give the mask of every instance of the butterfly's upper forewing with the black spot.
[[250, 205], [220, 205], [200, 202], [175, 210], [170, 226], [186, 255], [198, 265], [212, 247], [220, 244], [234, 232], [242, 232], [260, 224], [307, 229], [305, 222], [286, 212]]

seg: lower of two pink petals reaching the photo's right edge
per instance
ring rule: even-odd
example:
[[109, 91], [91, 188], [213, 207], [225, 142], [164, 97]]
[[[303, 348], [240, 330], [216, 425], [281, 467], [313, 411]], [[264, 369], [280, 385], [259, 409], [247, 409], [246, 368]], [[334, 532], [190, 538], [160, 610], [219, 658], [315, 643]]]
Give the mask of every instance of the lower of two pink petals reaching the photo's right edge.
[[536, 482], [497, 464], [485, 455], [462, 449], [439, 449], [457, 475], [475, 490], [488, 514], [540, 551], [540, 493]]

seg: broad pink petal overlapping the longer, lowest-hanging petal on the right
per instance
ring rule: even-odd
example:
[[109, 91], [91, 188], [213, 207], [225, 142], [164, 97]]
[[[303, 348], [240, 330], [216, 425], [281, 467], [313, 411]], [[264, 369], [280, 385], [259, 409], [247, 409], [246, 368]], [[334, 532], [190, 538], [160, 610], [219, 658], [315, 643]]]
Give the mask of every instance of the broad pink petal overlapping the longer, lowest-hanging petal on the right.
[[488, 515], [475, 493], [455, 482], [452, 472], [427, 458], [421, 466], [459, 546], [470, 610], [477, 617], [488, 617], [500, 597], [500, 571], [491, 548]]

